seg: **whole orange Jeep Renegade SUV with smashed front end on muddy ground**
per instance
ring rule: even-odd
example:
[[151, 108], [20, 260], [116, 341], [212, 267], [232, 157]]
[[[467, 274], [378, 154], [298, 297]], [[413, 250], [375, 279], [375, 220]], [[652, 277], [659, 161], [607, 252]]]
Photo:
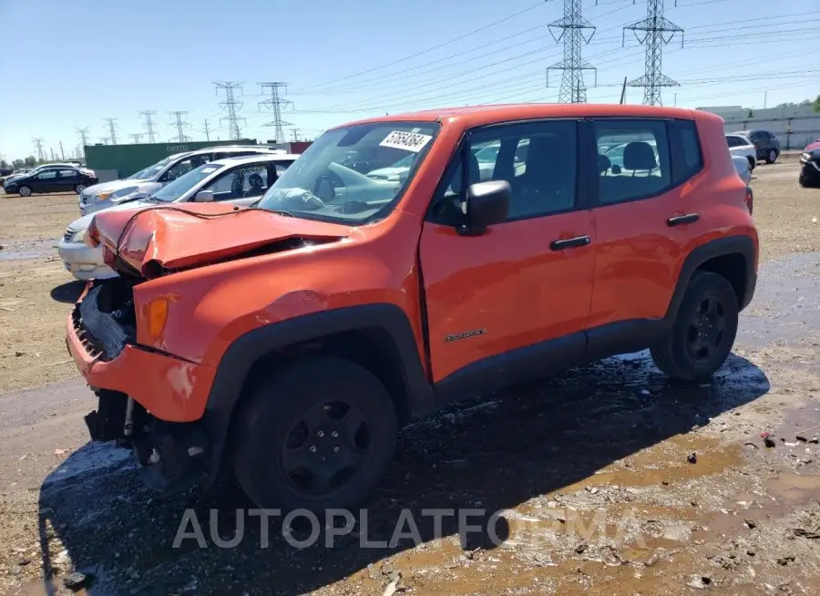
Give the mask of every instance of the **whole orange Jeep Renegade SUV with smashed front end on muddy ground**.
[[455, 108], [333, 128], [249, 208], [102, 211], [68, 349], [92, 439], [150, 485], [230, 465], [260, 507], [352, 507], [400, 426], [651, 350], [703, 381], [758, 239], [723, 121], [673, 108]]

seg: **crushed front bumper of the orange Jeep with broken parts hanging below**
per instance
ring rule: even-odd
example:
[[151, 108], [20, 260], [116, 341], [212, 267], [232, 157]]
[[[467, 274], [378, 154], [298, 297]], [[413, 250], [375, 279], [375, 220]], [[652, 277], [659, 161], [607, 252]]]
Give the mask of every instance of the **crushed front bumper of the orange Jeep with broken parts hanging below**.
[[67, 324], [68, 352], [98, 396], [97, 409], [85, 417], [89, 435], [133, 447], [151, 488], [209, 478], [210, 440], [199, 420], [210, 367], [134, 344], [132, 330], [97, 307], [100, 284], [87, 285]]

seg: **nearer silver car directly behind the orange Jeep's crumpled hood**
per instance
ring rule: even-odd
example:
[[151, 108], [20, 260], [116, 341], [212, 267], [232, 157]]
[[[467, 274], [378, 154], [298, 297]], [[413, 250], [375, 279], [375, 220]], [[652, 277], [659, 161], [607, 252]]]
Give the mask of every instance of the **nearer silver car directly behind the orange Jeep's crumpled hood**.
[[[120, 202], [111, 209], [130, 211], [146, 209], [162, 203], [220, 200], [234, 205], [250, 205], [261, 199], [273, 180], [299, 156], [288, 153], [252, 155], [242, 158], [218, 159], [190, 170], [149, 197]], [[78, 280], [116, 277], [103, 261], [102, 248], [86, 244], [86, 231], [94, 213], [72, 221], [57, 244], [63, 265]]]

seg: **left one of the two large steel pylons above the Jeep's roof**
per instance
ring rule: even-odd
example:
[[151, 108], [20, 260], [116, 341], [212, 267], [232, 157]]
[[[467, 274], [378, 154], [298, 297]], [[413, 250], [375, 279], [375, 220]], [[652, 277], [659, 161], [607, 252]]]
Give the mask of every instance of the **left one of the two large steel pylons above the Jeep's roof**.
[[[559, 103], [587, 103], [584, 70], [595, 70], [595, 67], [581, 57], [581, 42], [589, 44], [589, 40], [595, 35], [595, 26], [581, 15], [581, 0], [564, 0], [564, 15], [550, 23], [548, 29], [555, 43], [563, 39], [564, 57], [560, 62], [547, 68], [547, 86], [549, 71], [561, 70]], [[554, 29], [561, 30], [559, 36], [555, 35]], [[585, 31], [590, 31], [589, 37], [584, 34]]]

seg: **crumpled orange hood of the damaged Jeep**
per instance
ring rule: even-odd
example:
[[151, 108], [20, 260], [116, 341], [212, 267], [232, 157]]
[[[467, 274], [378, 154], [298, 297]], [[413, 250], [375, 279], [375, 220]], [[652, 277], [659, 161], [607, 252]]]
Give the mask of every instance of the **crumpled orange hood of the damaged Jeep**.
[[[95, 214], [89, 242], [102, 243], [118, 261], [145, 277], [163, 270], [207, 265], [287, 241], [339, 241], [350, 228], [340, 224], [238, 208], [228, 203], [153, 206], [140, 211]], [[119, 262], [107, 264], [124, 271]]]

